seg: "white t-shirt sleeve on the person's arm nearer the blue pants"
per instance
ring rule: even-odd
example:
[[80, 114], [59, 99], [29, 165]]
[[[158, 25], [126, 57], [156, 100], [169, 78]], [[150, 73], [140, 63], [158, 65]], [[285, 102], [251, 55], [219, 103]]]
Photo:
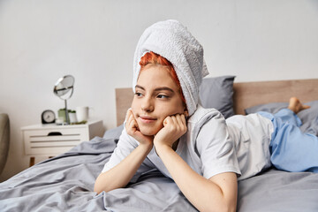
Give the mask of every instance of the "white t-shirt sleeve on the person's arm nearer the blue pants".
[[231, 140], [225, 119], [220, 113], [201, 126], [196, 148], [201, 158], [204, 178], [223, 172], [240, 175], [234, 140]]

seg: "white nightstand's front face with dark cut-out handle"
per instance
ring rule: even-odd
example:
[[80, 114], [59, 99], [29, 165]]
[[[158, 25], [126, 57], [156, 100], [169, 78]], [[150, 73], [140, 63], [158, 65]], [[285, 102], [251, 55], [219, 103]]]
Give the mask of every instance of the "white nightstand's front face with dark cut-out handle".
[[24, 133], [27, 155], [59, 154], [88, 140], [86, 128], [29, 130]]

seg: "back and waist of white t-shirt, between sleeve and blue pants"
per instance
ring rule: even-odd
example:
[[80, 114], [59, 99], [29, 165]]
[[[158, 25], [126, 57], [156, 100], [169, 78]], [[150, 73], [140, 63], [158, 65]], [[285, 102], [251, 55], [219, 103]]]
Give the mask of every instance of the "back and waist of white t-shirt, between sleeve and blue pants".
[[272, 122], [260, 114], [236, 115], [226, 119], [229, 133], [235, 142], [242, 175], [239, 180], [253, 177], [271, 166], [269, 142], [274, 131]]

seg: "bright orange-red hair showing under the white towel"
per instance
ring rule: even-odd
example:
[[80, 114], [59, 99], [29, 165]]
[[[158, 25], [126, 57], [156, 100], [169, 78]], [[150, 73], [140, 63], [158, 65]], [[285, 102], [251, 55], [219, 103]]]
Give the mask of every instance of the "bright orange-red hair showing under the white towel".
[[140, 58], [140, 72], [143, 71], [148, 64], [158, 64], [158, 65], [165, 66], [165, 68], [170, 73], [171, 78], [178, 86], [178, 90], [179, 90], [179, 93], [181, 95], [182, 102], [184, 102], [184, 104], [186, 105], [186, 98], [182, 93], [180, 81], [179, 81], [177, 73], [174, 70], [173, 65], [170, 63], [170, 61], [167, 60], [166, 58], [150, 51], [150, 52], [147, 52], [143, 57]]

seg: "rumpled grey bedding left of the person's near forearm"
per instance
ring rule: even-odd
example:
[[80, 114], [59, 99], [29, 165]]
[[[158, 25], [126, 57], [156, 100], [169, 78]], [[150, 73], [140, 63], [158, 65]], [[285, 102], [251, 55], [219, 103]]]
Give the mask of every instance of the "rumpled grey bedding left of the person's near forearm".
[[109, 193], [93, 192], [95, 178], [115, 148], [95, 138], [22, 171], [0, 184], [1, 211], [197, 211], [158, 171]]

